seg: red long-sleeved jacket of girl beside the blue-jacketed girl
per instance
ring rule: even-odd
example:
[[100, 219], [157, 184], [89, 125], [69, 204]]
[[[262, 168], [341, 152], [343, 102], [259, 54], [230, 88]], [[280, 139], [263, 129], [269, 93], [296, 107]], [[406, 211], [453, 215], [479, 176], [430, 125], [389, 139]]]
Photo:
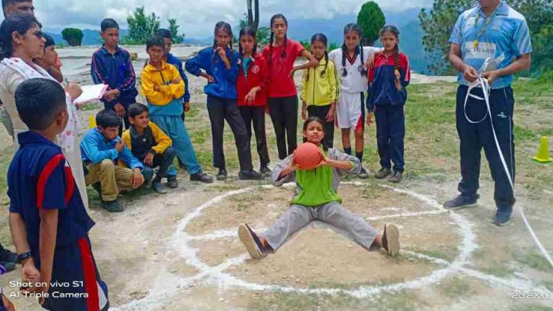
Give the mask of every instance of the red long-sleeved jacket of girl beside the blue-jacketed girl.
[[[245, 64], [248, 63], [248, 64]], [[238, 106], [265, 106], [267, 104], [267, 88], [269, 82], [269, 72], [267, 60], [261, 53], [256, 53], [254, 59], [243, 59], [243, 64], [238, 72], [238, 80], [236, 82], [236, 90], [238, 91]], [[243, 66], [245, 65], [245, 67]], [[246, 70], [244, 68], [247, 68]], [[252, 91], [252, 88], [259, 86], [261, 91], [255, 95], [255, 100], [252, 104], [245, 101], [247, 93]]]

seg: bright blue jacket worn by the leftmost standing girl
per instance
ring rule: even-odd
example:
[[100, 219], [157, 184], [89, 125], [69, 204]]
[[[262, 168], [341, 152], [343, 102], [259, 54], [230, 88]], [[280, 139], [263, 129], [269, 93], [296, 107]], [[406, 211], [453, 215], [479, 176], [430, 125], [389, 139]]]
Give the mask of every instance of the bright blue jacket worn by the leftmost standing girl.
[[205, 73], [214, 77], [215, 82], [207, 83], [203, 88], [205, 94], [221, 98], [223, 100], [236, 100], [236, 79], [238, 79], [238, 52], [226, 49], [227, 59], [231, 66], [227, 69], [223, 59], [214, 48], [205, 48], [198, 55], [186, 62], [186, 70], [198, 77], [205, 70]]

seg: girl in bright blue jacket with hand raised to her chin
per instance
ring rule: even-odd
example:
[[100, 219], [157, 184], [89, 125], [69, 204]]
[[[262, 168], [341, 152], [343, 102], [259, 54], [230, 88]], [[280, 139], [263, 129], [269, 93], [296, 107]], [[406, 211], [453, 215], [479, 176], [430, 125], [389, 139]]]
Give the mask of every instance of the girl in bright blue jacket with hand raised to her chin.
[[[212, 124], [213, 166], [218, 168], [217, 180], [227, 178], [225, 153], [223, 153], [223, 129], [227, 120], [238, 149], [241, 180], [261, 180], [263, 175], [254, 171], [252, 153], [244, 120], [236, 104], [236, 79], [239, 56], [232, 50], [232, 28], [220, 21], [215, 25], [212, 48], [205, 48], [186, 62], [186, 70], [196, 77], [207, 79], [207, 111]], [[202, 71], [202, 69], [204, 71]]]

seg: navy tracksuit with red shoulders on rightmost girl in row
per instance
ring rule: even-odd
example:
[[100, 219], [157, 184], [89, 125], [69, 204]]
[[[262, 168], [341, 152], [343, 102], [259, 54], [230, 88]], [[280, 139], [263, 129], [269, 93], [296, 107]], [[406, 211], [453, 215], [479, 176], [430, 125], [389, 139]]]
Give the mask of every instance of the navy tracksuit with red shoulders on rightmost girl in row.
[[400, 53], [397, 55], [400, 71], [401, 89], [395, 85], [395, 55], [378, 54], [374, 66], [368, 73], [367, 110], [375, 112], [376, 135], [380, 165], [394, 171], [403, 172], [405, 114], [403, 107], [407, 100], [405, 87], [409, 85], [411, 71], [409, 59]]

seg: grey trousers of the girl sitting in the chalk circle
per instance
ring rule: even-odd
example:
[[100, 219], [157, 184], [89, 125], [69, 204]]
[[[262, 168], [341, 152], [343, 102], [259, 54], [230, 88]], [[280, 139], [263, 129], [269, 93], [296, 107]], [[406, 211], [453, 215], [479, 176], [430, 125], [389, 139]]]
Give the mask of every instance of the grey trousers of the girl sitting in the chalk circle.
[[276, 251], [290, 235], [305, 227], [313, 220], [320, 220], [338, 229], [345, 230], [353, 236], [355, 242], [370, 251], [379, 249], [379, 246], [373, 246], [378, 232], [366, 223], [363, 218], [351, 214], [350, 211], [344, 209], [338, 202], [330, 202], [319, 207], [292, 205], [261, 236]]

